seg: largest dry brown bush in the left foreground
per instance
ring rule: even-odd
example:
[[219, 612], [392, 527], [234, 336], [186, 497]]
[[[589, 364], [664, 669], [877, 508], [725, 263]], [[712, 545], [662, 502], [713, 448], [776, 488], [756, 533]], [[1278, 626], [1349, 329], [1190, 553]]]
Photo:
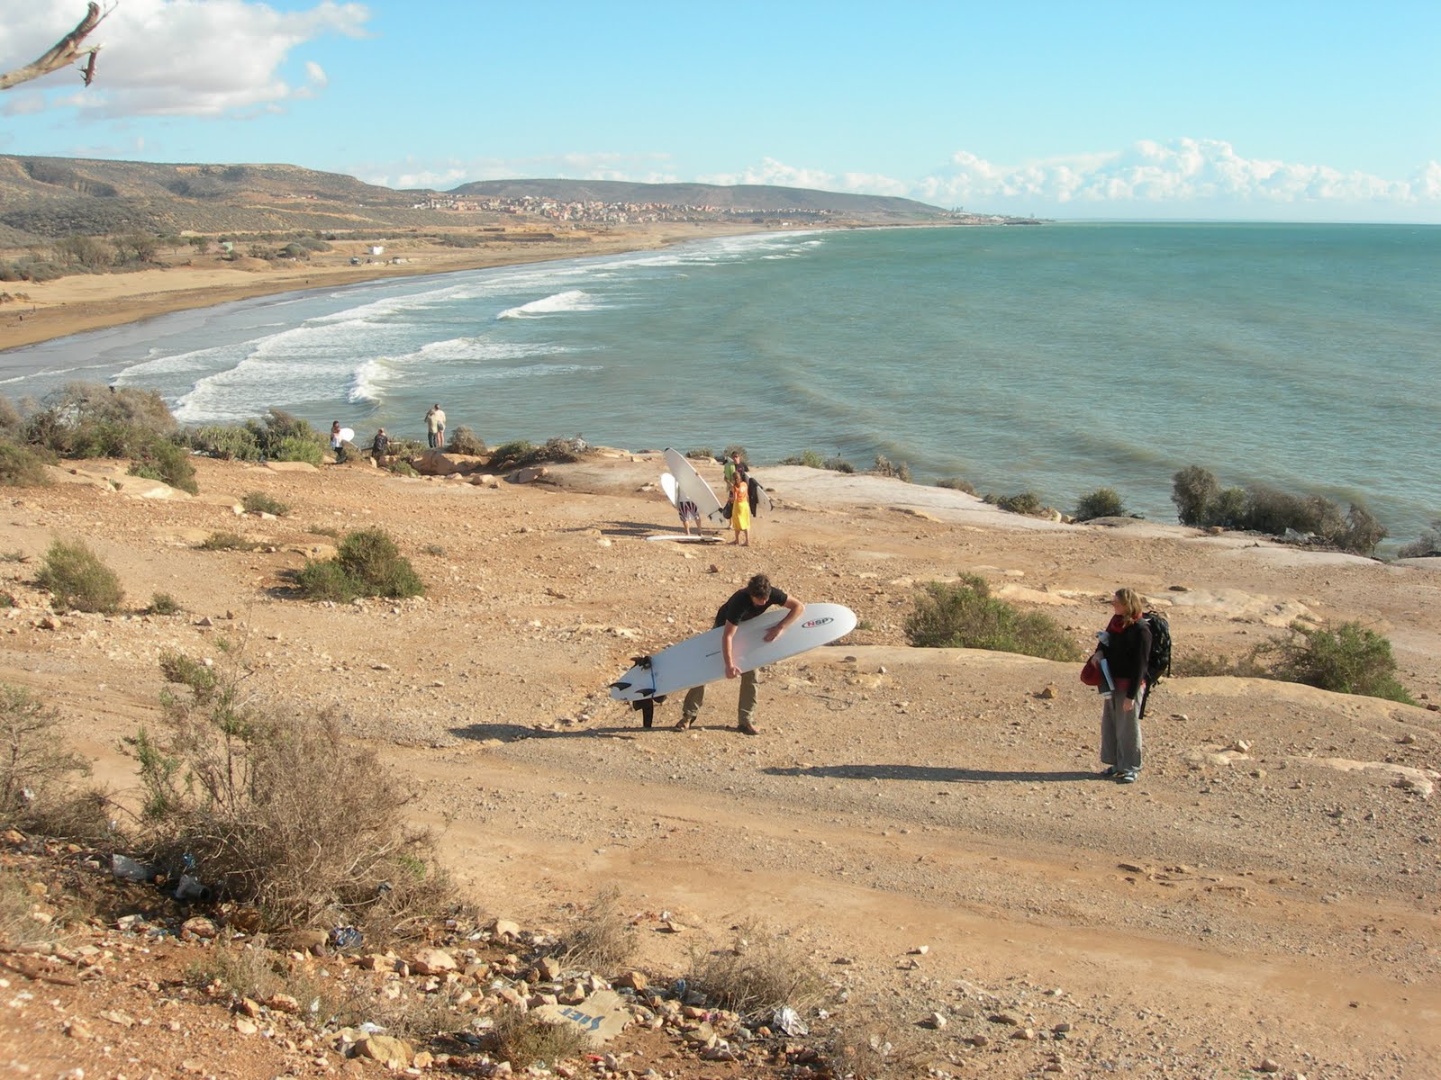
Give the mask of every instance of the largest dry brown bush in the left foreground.
[[161, 670], [164, 726], [127, 740], [151, 861], [193, 865], [265, 929], [369, 920], [393, 932], [398, 897], [411, 916], [450, 903], [428, 838], [405, 825], [409, 796], [333, 716], [264, 701], [223, 642], [212, 665], [167, 654]]

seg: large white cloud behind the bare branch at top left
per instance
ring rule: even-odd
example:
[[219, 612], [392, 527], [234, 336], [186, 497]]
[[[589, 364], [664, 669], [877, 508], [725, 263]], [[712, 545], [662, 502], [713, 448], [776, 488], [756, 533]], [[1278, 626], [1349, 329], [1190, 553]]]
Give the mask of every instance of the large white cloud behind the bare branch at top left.
[[[0, 69], [39, 56], [81, 14], [36, 4], [0, 23]], [[86, 39], [102, 46], [94, 85], [73, 91], [56, 73], [39, 89], [62, 91], [52, 107], [99, 117], [219, 117], [314, 96], [329, 82], [317, 63], [290, 85], [280, 73], [291, 50], [327, 33], [360, 36], [363, 4], [323, 0], [303, 12], [277, 12], [254, 0], [124, 0]]]

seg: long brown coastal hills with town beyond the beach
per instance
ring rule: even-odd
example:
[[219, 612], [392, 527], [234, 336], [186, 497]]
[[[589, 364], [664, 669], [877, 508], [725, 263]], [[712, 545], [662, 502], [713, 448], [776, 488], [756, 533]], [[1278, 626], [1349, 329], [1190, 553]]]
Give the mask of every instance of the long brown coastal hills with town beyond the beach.
[[[530, 202], [527, 202], [530, 200]], [[535, 203], [589, 203], [591, 209]], [[641, 217], [618, 204], [646, 204]], [[607, 207], [602, 210], [601, 207]], [[708, 207], [659, 212], [657, 207]], [[71, 235], [216, 235], [282, 230], [445, 229], [540, 222], [735, 220], [800, 213], [885, 225], [954, 216], [909, 199], [794, 187], [503, 180], [452, 192], [395, 190], [288, 164], [151, 164], [0, 156], [0, 248]], [[965, 215], [963, 215], [965, 217]]]

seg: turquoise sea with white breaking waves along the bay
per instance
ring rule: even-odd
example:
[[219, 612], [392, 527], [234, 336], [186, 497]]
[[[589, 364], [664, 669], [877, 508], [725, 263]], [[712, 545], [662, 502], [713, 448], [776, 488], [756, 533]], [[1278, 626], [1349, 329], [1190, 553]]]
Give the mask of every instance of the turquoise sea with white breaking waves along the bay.
[[1170, 477], [1441, 514], [1441, 228], [1045, 225], [771, 233], [290, 294], [0, 353], [0, 393], [156, 387], [186, 423], [280, 406], [490, 444], [814, 449], [918, 481]]

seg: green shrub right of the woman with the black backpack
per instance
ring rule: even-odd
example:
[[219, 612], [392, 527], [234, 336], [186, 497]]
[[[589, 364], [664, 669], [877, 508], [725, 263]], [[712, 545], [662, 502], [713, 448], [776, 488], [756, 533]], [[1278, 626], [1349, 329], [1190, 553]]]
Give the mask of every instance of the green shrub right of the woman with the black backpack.
[[1396, 681], [1391, 641], [1359, 622], [1343, 622], [1334, 629], [1293, 622], [1290, 638], [1261, 647], [1258, 655], [1274, 658], [1271, 678], [1415, 704]]

